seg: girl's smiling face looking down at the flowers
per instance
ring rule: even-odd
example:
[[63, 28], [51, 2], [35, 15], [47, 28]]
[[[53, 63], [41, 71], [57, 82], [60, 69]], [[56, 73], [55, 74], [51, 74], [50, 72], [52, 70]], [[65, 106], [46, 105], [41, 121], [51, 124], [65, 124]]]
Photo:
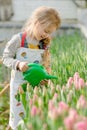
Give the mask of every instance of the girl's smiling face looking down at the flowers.
[[34, 27], [34, 36], [35, 39], [38, 41], [45, 39], [45, 38], [50, 38], [50, 34], [53, 33], [56, 30], [56, 26], [50, 25], [47, 28], [44, 28], [43, 25], [36, 24]]

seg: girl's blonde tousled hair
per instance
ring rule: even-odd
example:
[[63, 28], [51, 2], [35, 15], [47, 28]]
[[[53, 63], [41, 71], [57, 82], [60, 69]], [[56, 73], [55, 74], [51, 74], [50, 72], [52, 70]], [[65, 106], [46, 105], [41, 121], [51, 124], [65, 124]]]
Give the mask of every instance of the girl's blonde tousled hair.
[[41, 6], [37, 8], [27, 20], [22, 31], [26, 31], [31, 37], [35, 34], [34, 27], [39, 22], [42, 27], [47, 28], [49, 25], [54, 25], [56, 29], [59, 28], [61, 19], [56, 9], [52, 7]]

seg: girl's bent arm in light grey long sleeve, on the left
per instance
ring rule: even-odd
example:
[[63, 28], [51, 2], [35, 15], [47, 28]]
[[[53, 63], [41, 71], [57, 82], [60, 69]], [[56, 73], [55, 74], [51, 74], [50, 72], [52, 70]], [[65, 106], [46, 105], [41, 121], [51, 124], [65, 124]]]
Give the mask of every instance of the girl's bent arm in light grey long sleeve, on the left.
[[20, 47], [21, 39], [19, 34], [16, 34], [7, 43], [3, 52], [3, 64], [11, 69], [16, 69], [17, 64], [20, 62], [15, 59], [16, 51]]

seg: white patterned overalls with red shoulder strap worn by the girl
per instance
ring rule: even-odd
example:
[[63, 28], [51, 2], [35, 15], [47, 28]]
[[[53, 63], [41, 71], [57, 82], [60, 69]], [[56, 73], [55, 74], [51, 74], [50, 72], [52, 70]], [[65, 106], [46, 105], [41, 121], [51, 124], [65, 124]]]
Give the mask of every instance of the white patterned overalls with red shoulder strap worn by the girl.
[[[16, 59], [20, 61], [26, 61], [28, 63], [41, 62], [44, 49], [31, 49], [28, 48], [26, 42], [26, 34], [21, 35], [21, 47], [18, 48], [16, 53]], [[19, 121], [21, 120], [20, 114], [24, 113], [22, 103], [19, 103], [15, 96], [18, 92], [19, 86], [24, 83], [22, 72], [18, 70], [12, 70], [11, 82], [10, 82], [10, 120], [9, 125], [12, 129], [17, 130]]]

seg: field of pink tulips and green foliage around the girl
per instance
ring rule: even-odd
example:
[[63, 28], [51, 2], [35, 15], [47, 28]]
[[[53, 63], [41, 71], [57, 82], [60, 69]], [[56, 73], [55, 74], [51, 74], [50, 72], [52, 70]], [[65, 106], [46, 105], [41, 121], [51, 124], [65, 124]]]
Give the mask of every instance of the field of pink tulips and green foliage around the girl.
[[[25, 114], [20, 113], [18, 130], [87, 130], [87, 40], [79, 30], [59, 35], [50, 52], [52, 75], [58, 79], [19, 89]], [[2, 119], [4, 126], [8, 116], [2, 115]]]

